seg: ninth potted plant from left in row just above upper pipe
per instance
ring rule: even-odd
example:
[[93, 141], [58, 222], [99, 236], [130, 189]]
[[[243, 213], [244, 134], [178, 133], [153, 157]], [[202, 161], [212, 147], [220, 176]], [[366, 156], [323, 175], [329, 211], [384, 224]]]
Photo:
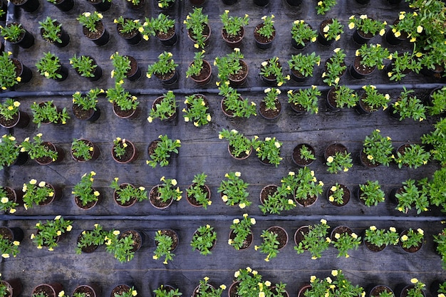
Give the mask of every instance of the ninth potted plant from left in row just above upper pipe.
[[316, 53], [291, 55], [288, 61], [288, 66], [291, 70], [291, 78], [297, 82], [304, 81], [308, 76], [313, 76], [314, 66], [319, 66], [321, 63], [321, 56], [316, 56]]

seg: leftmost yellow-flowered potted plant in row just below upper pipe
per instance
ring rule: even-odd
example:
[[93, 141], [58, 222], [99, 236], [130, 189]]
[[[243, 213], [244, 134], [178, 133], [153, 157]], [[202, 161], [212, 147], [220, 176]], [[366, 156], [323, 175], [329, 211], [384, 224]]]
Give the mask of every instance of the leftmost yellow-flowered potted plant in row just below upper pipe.
[[0, 103], [0, 125], [2, 127], [24, 128], [29, 123], [29, 115], [19, 110], [20, 102], [12, 98], [6, 98]]

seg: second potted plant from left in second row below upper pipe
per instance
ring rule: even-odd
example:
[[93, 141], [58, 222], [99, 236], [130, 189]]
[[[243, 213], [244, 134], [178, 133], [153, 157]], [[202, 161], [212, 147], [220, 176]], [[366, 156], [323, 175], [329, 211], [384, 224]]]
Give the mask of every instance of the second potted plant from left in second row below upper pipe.
[[41, 165], [63, 160], [63, 150], [61, 147], [57, 147], [48, 141], [44, 142], [41, 137], [42, 133], [38, 133], [33, 137], [32, 142], [29, 141], [29, 137], [26, 137], [20, 144], [20, 151], [28, 152], [31, 160], [36, 160]]

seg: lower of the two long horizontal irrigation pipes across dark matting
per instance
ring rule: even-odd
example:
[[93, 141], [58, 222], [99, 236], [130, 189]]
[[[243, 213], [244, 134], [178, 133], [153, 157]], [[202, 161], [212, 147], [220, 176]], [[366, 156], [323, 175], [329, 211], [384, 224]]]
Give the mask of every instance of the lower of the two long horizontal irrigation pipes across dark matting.
[[[257, 221], [318, 221], [326, 219], [328, 222], [357, 222], [357, 221], [395, 221], [395, 222], [442, 222], [446, 217], [399, 217], [399, 216], [337, 216], [337, 215], [296, 215], [296, 216], [254, 216]], [[85, 221], [232, 221], [234, 216], [228, 215], [207, 215], [207, 216], [184, 216], [184, 215], [146, 215], [146, 216], [88, 216], [88, 215], [63, 215], [64, 219], [85, 220]], [[54, 216], [15, 216], [4, 214], [0, 216], [0, 221], [35, 221], [51, 220]]]

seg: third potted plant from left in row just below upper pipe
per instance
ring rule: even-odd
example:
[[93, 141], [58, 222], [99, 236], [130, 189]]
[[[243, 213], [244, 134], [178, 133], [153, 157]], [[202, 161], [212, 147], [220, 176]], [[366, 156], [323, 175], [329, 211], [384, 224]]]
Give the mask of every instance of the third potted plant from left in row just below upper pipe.
[[73, 115], [79, 120], [94, 122], [100, 117], [100, 110], [97, 106], [98, 95], [105, 93], [103, 89], [90, 89], [85, 95], [76, 91], [73, 93]]

